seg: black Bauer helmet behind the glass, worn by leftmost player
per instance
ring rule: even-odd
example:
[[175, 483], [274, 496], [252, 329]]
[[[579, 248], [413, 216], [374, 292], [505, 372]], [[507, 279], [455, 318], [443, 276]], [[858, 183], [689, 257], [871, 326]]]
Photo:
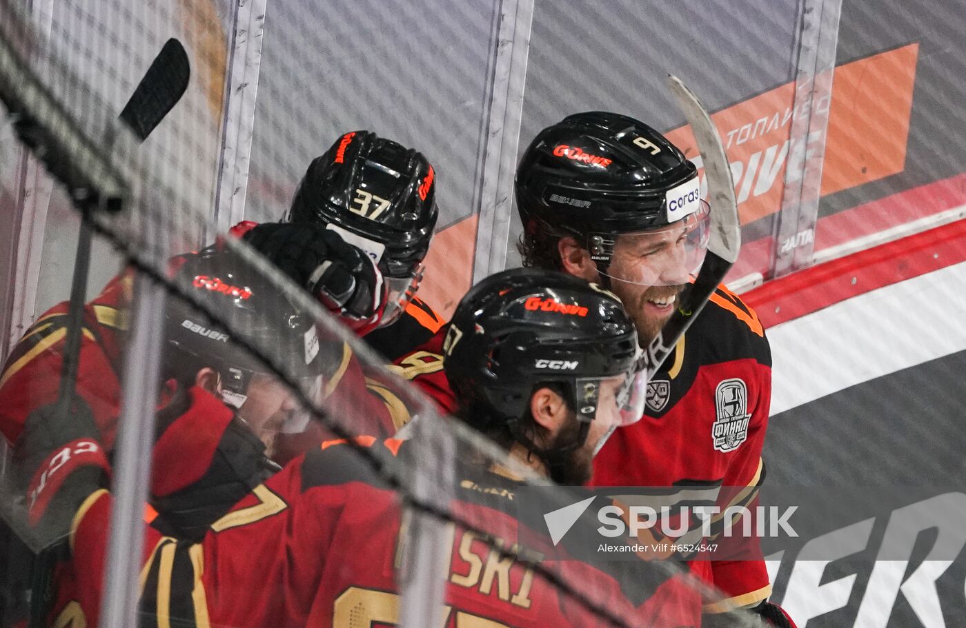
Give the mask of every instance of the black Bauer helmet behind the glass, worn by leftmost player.
[[252, 376], [272, 373], [251, 348], [303, 391], [337, 364], [340, 351], [320, 342], [312, 318], [237, 253], [210, 247], [186, 257], [173, 281], [198, 305], [177, 296], [166, 301], [165, 379], [193, 380], [198, 370], [212, 368], [221, 377], [222, 398], [241, 408]]

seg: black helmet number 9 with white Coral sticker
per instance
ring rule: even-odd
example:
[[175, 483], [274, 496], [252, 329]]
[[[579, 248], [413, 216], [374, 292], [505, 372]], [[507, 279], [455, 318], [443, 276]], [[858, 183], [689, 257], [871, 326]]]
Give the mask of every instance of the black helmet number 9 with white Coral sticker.
[[685, 226], [689, 270], [707, 249], [708, 206], [695, 165], [628, 116], [575, 114], [540, 131], [517, 168], [516, 197], [526, 238], [572, 235], [605, 274], [618, 235], [653, 239]]

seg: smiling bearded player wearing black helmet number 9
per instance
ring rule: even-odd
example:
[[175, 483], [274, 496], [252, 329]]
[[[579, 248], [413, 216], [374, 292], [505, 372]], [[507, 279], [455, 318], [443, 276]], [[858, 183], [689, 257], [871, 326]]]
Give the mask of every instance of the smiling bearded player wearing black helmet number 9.
[[[609, 287], [644, 345], [651, 341], [706, 247], [708, 206], [699, 199], [695, 166], [644, 123], [583, 113], [537, 134], [517, 170], [516, 195], [525, 265]], [[595, 460], [593, 482], [725, 487], [723, 508], [753, 505], [764, 479], [770, 398], [764, 329], [741, 299], [719, 287], [649, 382], [642, 421], [620, 430]], [[695, 561], [696, 572], [726, 598], [705, 607], [705, 623], [746, 607], [787, 625], [766, 602], [771, 586], [756, 551], [736, 550], [742, 560]]]

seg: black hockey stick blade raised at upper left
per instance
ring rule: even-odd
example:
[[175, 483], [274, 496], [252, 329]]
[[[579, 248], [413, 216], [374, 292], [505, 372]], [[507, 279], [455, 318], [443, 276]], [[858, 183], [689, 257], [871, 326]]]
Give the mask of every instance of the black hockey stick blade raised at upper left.
[[130, 96], [121, 112], [121, 120], [139, 140], [148, 139], [157, 124], [184, 96], [190, 77], [191, 66], [185, 46], [175, 39], [166, 41]]

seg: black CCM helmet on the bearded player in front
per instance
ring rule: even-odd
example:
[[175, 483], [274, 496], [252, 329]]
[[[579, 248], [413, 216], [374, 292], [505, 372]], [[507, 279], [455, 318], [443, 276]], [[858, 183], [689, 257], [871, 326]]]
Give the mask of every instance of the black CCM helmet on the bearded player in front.
[[603, 379], [624, 375], [624, 423], [639, 420], [646, 382], [636, 370], [638, 334], [620, 300], [577, 277], [515, 268], [472, 287], [453, 314], [443, 342], [443, 367], [461, 404], [481, 431], [519, 429], [530, 396], [557, 382], [582, 422], [575, 447], [597, 414]]

